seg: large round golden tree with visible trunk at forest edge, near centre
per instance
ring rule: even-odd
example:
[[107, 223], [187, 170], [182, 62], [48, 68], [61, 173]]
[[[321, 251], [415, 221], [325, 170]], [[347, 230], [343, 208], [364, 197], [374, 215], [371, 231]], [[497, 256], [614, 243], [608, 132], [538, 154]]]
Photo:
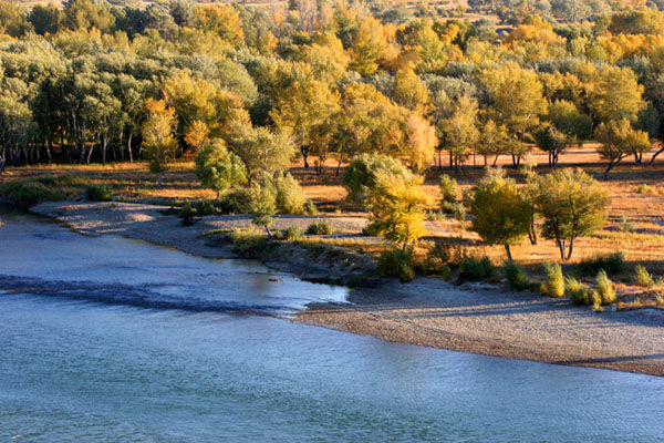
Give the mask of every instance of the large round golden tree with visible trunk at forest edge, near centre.
[[323, 124], [339, 109], [340, 96], [326, 83], [315, 80], [294, 82], [283, 92], [277, 107], [270, 112], [277, 126], [295, 137], [309, 167], [311, 135], [314, 126]]

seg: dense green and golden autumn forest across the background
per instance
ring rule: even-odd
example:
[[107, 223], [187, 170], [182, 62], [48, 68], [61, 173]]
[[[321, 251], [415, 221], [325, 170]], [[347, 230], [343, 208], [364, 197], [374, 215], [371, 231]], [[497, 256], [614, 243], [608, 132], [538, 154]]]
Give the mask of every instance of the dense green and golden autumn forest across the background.
[[0, 167], [159, 171], [215, 142], [249, 179], [298, 152], [319, 173], [366, 153], [421, 172], [500, 155], [518, 166], [533, 144], [556, 165], [590, 138], [606, 172], [641, 163], [662, 138], [663, 13], [610, 2], [560, 23], [540, 3], [499, 34], [426, 3], [0, 1]]

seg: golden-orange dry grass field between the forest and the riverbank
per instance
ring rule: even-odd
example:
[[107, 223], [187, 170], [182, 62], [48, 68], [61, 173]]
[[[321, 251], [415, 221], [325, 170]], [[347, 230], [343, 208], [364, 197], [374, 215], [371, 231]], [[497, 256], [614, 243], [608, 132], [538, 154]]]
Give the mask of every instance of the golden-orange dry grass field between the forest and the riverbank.
[[[502, 158], [499, 164], [508, 166], [508, 158]], [[650, 161], [646, 156], [644, 162]], [[533, 153], [530, 163], [537, 163], [538, 172], [548, 171], [547, 156], [543, 153]], [[470, 161], [470, 164], [473, 162]], [[483, 158], [477, 158], [477, 168], [467, 166], [459, 172], [449, 169], [430, 171], [425, 181], [428, 194], [439, 198], [438, 181], [440, 173], [455, 176], [459, 182], [460, 190], [470, 186], [481, 176]], [[561, 167], [582, 167], [590, 174], [603, 181], [603, 164], [598, 158], [592, 145], [583, 148], [571, 150], [563, 154]], [[345, 200], [345, 190], [341, 185], [343, 167], [339, 176], [335, 175], [335, 164], [330, 162], [323, 175], [317, 175], [313, 169], [305, 169], [301, 164], [294, 164], [291, 173], [301, 183], [305, 194], [319, 209], [328, 217], [336, 216], [365, 216], [362, 207]], [[506, 167], [508, 174], [517, 181], [522, 176], [516, 169]], [[0, 175], [0, 183], [28, 179], [35, 176], [68, 176], [69, 183], [63, 186], [66, 198], [83, 198], [87, 185], [110, 185], [114, 199], [122, 202], [139, 202], [160, 205], [183, 205], [186, 202], [212, 199], [215, 194], [200, 188], [194, 173], [191, 161], [176, 162], [168, 166], [163, 176], [162, 187], [157, 186], [155, 175], [149, 173], [145, 163], [123, 163], [102, 165], [42, 165], [31, 167], [9, 168]], [[664, 162], [653, 165], [634, 165], [631, 159], [619, 165], [603, 182], [612, 193], [612, 207], [609, 223], [603, 229], [591, 237], [580, 238], [577, 241], [574, 256], [571, 262], [621, 251], [627, 261], [627, 272], [618, 276], [621, 293], [634, 295], [637, 291], [630, 286], [633, 267], [644, 265], [655, 276], [664, 276]], [[460, 194], [460, 193], [459, 193]], [[460, 195], [459, 195], [460, 197]], [[429, 208], [436, 212], [437, 207]], [[427, 223], [428, 236], [426, 241], [446, 239], [449, 243], [464, 245], [467, 251], [489, 256], [499, 264], [505, 259], [501, 247], [490, 247], [483, 244], [479, 237], [469, 230], [470, 223], [459, 222], [452, 217], [432, 217]], [[325, 239], [335, 246], [363, 253], [380, 253], [381, 244], [367, 243], [361, 233], [347, 231], [343, 239]], [[320, 243], [321, 239], [311, 241]], [[421, 254], [424, 249], [421, 248]], [[535, 277], [541, 277], [542, 261], [558, 261], [559, 253], [553, 241], [540, 239], [537, 246], [523, 241], [512, 249], [515, 258], [521, 262]], [[654, 303], [654, 299], [653, 299]]]

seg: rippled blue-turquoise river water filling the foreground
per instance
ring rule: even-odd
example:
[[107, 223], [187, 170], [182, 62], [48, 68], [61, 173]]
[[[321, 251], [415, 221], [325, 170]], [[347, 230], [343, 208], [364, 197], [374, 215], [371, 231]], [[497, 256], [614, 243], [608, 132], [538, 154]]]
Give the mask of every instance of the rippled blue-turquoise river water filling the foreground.
[[30, 217], [0, 228], [0, 442], [664, 439], [664, 380], [263, 315], [345, 291]]

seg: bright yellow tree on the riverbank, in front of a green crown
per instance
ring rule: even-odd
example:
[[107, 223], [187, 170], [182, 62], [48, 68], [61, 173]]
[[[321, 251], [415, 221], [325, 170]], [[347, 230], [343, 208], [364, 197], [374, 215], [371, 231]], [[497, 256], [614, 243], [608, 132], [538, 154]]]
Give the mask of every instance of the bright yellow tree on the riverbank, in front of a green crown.
[[424, 206], [430, 204], [430, 198], [422, 189], [422, 183], [419, 176], [403, 178], [380, 173], [369, 190], [372, 229], [404, 250], [426, 234]]

